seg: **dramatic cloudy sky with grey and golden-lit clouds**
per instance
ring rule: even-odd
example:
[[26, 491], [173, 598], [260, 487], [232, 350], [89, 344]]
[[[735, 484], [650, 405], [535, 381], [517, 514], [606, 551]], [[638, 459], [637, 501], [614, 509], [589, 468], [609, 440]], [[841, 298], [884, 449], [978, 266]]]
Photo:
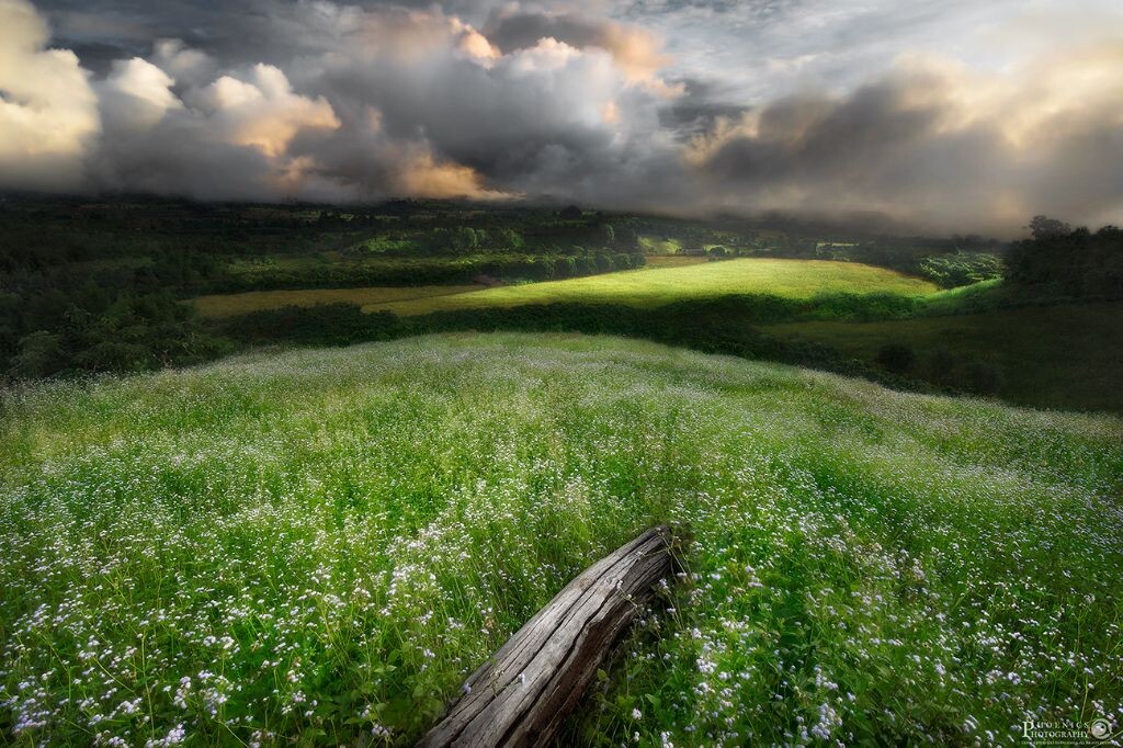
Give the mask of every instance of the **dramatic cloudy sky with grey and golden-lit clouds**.
[[0, 0], [0, 189], [1123, 222], [1117, 0]]

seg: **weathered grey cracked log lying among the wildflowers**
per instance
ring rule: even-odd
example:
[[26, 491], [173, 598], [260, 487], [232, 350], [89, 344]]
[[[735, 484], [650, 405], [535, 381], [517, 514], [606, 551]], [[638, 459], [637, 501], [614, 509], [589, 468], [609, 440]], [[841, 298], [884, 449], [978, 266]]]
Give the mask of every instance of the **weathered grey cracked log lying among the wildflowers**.
[[670, 531], [656, 527], [590, 566], [468, 678], [418, 746], [548, 744], [673, 564]]

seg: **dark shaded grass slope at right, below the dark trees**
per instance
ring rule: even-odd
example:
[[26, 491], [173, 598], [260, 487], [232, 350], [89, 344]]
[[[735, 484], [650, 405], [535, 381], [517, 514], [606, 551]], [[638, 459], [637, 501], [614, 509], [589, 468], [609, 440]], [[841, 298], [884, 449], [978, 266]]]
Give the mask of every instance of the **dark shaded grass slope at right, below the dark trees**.
[[[1021, 307], [883, 322], [791, 322], [766, 332], [829, 345], [873, 361], [886, 344], [921, 357], [997, 364], [1002, 396], [1039, 408], [1123, 410], [1123, 303]], [[923, 362], [921, 362], [923, 364]]]

